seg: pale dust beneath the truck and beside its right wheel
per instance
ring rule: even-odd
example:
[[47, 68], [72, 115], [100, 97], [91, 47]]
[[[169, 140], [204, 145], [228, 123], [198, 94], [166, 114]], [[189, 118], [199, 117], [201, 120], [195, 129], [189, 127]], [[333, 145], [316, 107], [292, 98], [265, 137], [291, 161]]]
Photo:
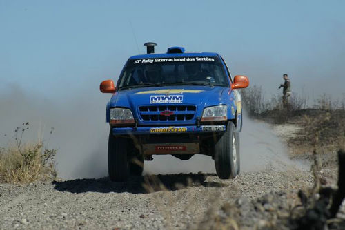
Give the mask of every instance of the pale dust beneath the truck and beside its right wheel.
[[[305, 169], [302, 163], [290, 160], [286, 146], [273, 129], [264, 122], [253, 121], [244, 116], [240, 134], [241, 171], [266, 169]], [[215, 173], [215, 163], [210, 156], [195, 155], [190, 160], [179, 160], [173, 156], [153, 156], [146, 161], [144, 170], [149, 174]]]

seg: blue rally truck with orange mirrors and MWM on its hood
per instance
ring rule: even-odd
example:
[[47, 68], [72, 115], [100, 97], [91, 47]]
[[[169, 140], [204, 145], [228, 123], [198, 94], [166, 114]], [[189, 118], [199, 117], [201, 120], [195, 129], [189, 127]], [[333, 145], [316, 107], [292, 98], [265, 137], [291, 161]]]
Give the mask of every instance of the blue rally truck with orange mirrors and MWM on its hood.
[[[131, 56], [114, 81], [100, 85], [112, 97], [106, 105], [108, 173], [112, 181], [140, 176], [144, 160], [170, 154], [189, 160], [204, 154], [215, 160], [217, 176], [239, 174], [241, 96], [246, 76], [230, 74], [214, 52], [186, 52], [183, 47]], [[201, 169], [202, 170], [202, 169]]]

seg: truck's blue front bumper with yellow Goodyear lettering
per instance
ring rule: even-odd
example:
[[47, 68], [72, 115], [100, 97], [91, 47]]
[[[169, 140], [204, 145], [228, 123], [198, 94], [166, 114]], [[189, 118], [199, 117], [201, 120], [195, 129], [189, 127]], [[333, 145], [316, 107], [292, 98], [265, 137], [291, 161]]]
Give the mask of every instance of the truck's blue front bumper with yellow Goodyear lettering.
[[112, 127], [112, 134], [117, 135], [150, 135], [150, 134], [204, 134], [224, 133], [226, 125], [184, 125], [164, 127]]

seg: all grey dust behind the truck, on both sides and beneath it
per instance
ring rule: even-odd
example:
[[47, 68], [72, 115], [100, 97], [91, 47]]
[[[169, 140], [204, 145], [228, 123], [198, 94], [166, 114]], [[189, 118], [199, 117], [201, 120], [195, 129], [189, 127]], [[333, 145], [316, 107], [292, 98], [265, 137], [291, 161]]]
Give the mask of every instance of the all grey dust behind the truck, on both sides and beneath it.
[[[99, 93], [98, 87], [88, 92], [52, 101], [44, 96], [26, 92], [10, 85], [0, 93], [0, 145], [13, 140], [15, 127], [29, 121], [27, 141], [41, 139], [48, 148], [57, 149], [59, 178], [100, 178], [107, 176], [107, 145], [109, 127], [104, 122], [105, 105], [109, 96]], [[50, 128], [54, 127], [52, 136]], [[6, 134], [6, 136], [5, 136]], [[241, 169], [264, 170], [268, 166], [284, 169], [295, 165], [288, 159], [286, 149], [265, 123], [244, 118], [241, 133]], [[210, 156], [195, 155], [190, 160], [173, 156], [154, 156], [146, 161], [146, 174], [179, 174], [190, 172], [215, 173]]]

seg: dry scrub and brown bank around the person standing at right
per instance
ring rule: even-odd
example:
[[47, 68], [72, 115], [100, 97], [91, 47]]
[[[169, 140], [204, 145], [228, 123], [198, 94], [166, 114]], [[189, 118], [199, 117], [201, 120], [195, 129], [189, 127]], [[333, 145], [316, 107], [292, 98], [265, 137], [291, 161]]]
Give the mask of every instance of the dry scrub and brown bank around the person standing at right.
[[344, 147], [345, 94], [342, 100], [335, 101], [331, 100], [331, 96], [322, 94], [309, 107], [306, 96], [293, 94], [289, 99], [289, 108], [284, 109], [279, 95], [265, 99], [261, 87], [254, 85], [242, 92], [242, 101], [251, 118], [273, 124], [297, 125], [299, 132], [288, 140], [288, 145], [297, 150], [295, 154], [313, 152], [315, 141], [321, 153]]

